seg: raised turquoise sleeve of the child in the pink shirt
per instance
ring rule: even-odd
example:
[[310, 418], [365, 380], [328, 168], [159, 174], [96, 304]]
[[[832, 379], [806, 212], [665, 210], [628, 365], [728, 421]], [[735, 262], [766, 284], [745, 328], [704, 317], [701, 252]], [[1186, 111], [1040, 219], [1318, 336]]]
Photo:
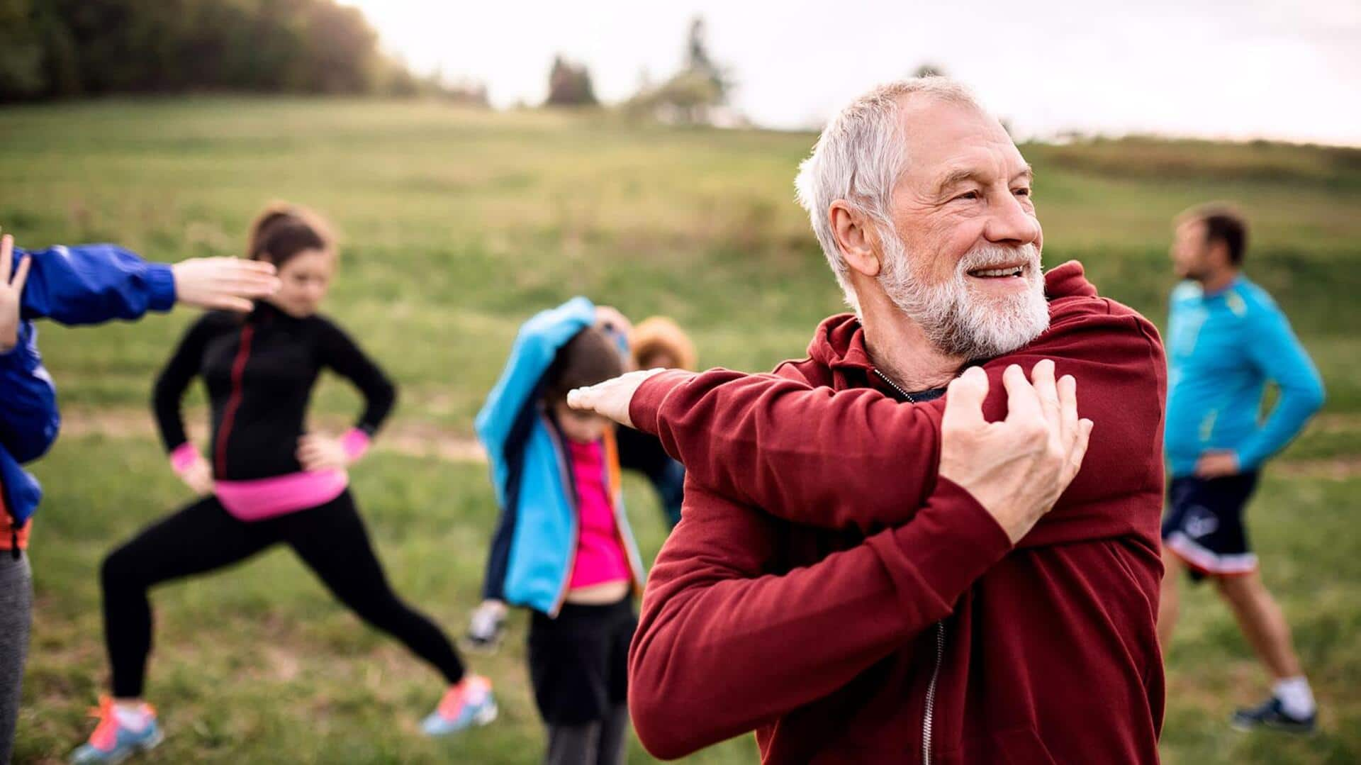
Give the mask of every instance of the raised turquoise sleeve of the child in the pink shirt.
[[491, 388], [475, 421], [478, 438], [487, 448], [493, 466], [520, 411], [543, 373], [548, 370], [558, 348], [592, 324], [595, 324], [595, 304], [584, 297], [576, 297], [558, 308], [536, 313], [520, 327], [501, 378]]

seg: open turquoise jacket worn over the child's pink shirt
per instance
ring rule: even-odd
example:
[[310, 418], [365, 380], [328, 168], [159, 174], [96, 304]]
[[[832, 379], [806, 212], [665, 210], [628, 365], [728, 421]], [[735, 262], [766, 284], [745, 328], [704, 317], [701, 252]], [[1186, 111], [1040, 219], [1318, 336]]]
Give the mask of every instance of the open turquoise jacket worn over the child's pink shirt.
[[[483, 596], [550, 617], [562, 607], [572, 576], [577, 509], [562, 436], [540, 402], [543, 376], [558, 348], [593, 323], [595, 305], [584, 297], [525, 321], [475, 421], [501, 505]], [[606, 486], [612, 483], [606, 481]], [[641, 592], [642, 559], [618, 495], [614, 508], [634, 589]]]

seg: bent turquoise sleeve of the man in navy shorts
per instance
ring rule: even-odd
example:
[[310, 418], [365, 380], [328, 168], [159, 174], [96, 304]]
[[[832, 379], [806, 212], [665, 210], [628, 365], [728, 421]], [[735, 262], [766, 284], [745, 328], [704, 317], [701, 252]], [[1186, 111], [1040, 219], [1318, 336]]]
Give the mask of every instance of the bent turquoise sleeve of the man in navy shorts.
[[1285, 314], [1273, 304], [1253, 306], [1248, 331], [1248, 359], [1281, 395], [1262, 427], [1239, 446], [1241, 470], [1255, 470], [1283, 449], [1323, 406], [1323, 380]]

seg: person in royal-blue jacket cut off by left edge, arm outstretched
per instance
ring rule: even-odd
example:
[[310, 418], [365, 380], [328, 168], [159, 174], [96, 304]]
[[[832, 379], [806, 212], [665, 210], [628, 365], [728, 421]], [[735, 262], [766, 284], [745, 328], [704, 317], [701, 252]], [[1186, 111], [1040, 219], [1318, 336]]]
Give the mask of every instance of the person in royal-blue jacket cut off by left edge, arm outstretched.
[[8, 762], [29, 647], [33, 579], [24, 553], [42, 487], [24, 468], [60, 427], [38, 353], [37, 319], [88, 325], [136, 320], [176, 302], [249, 310], [278, 289], [274, 268], [231, 257], [147, 263], [114, 245], [27, 252], [0, 237], [0, 762]]

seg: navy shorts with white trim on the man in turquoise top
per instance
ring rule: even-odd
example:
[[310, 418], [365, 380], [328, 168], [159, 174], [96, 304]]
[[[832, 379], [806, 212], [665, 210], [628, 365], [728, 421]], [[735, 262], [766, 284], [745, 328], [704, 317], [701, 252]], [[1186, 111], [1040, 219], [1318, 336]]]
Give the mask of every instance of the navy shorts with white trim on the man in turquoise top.
[[1258, 557], [1248, 546], [1248, 530], [1243, 524], [1243, 509], [1256, 487], [1256, 471], [1172, 479], [1168, 512], [1162, 519], [1162, 544], [1185, 561], [1192, 580], [1258, 569]]

